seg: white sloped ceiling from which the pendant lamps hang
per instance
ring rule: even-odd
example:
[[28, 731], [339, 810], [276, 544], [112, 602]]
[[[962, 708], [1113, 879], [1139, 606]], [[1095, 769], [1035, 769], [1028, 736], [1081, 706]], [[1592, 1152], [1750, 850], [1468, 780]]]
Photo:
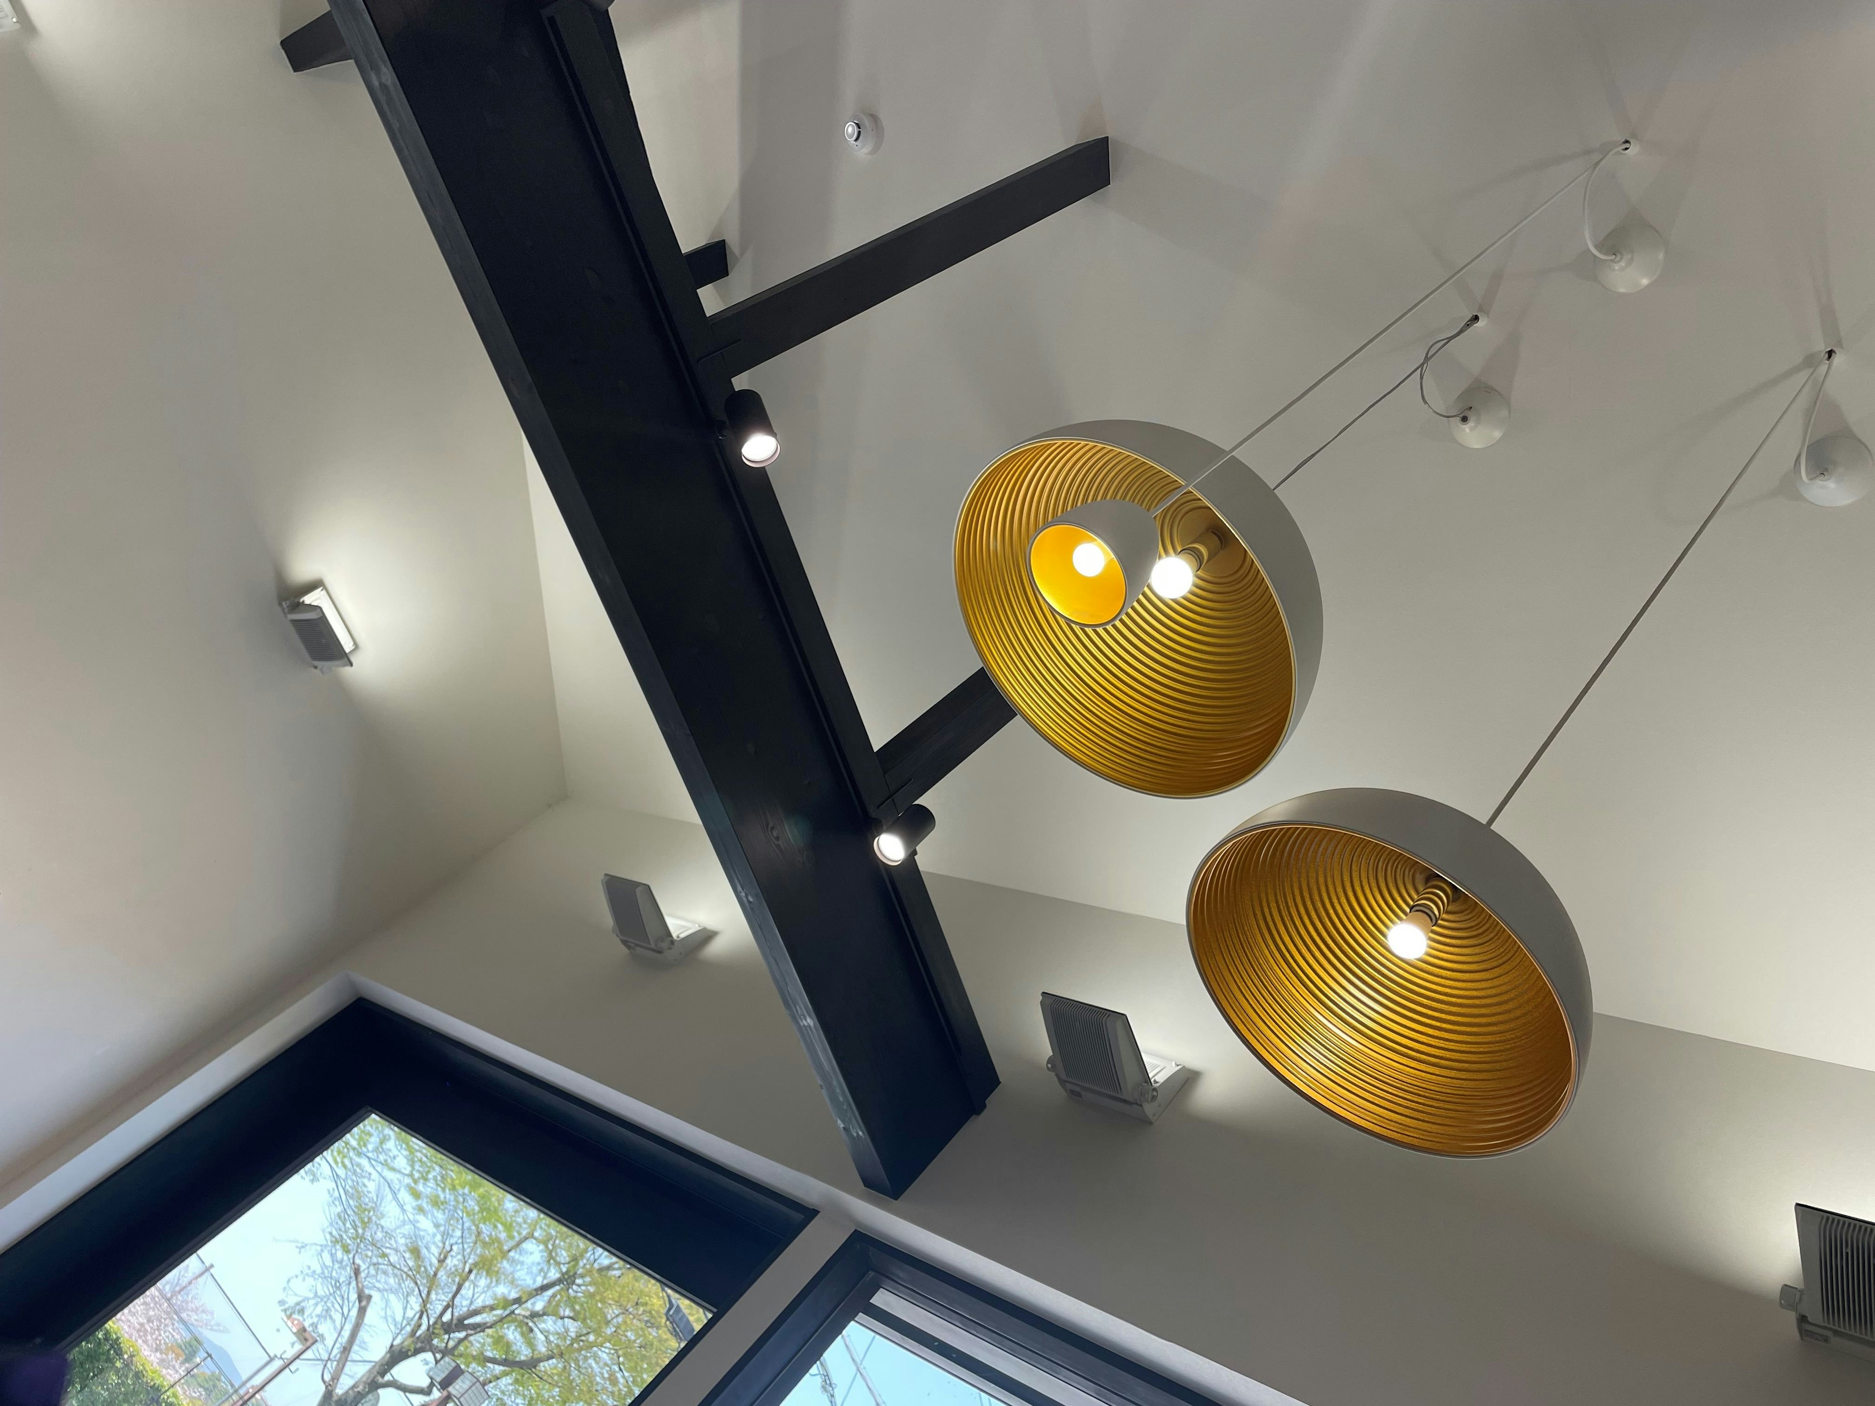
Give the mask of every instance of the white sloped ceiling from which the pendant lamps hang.
[[[1080, 137], [1114, 186], [750, 377], [876, 740], [975, 667], [949, 570], [975, 472], [1084, 418], [1228, 442], [1581, 169], [1669, 238], [1599, 287], [1573, 201], [1252, 444], [1271, 480], [1483, 307], [1434, 381], [1511, 433], [1462, 450], [1410, 392], [1284, 489], [1328, 643], [1277, 761], [1209, 800], [1131, 795], [1011, 725], [930, 797], [922, 857], [1179, 917], [1232, 825], [1329, 785], [1483, 817], [1836, 341], [1819, 433], [1875, 437], [1866, 6], [731, 0], [613, 6], [686, 244], [765, 287]], [[885, 146], [838, 141], [876, 109]], [[737, 122], [729, 116], [735, 112]], [[1612, 176], [1612, 180], [1609, 178]], [[1502, 829], [1551, 877], [1599, 1010], [1875, 1069], [1858, 825], [1875, 784], [1875, 501], [1783, 478], [1791, 420]], [[536, 506], [540, 506], [536, 502]], [[574, 793], [688, 815], [596, 602], [542, 531]], [[1211, 1012], [1192, 1012], [1211, 1018]]]

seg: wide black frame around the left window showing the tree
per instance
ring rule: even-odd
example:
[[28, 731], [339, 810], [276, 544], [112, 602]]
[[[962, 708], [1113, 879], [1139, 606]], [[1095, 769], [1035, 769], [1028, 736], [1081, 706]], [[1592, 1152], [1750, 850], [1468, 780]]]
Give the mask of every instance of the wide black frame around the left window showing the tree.
[[0, 1254], [0, 1342], [79, 1342], [373, 1114], [711, 1309], [712, 1324], [814, 1219], [360, 997]]

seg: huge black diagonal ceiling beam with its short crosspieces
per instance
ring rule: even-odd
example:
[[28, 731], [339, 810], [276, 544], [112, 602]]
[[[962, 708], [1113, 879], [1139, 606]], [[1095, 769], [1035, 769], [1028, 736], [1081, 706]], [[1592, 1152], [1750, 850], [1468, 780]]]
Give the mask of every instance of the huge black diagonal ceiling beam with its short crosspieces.
[[677, 244], [604, 7], [334, 0], [332, 19], [859, 1175], [896, 1196], [998, 1076], [917, 864], [879, 864], [872, 836], [1011, 712], [977, 675], [874, 752], [769, 476], [726, 452], [720, 412], [733, 369], [1104, 187], [1106, 141], [711, 319], [714, 262]]

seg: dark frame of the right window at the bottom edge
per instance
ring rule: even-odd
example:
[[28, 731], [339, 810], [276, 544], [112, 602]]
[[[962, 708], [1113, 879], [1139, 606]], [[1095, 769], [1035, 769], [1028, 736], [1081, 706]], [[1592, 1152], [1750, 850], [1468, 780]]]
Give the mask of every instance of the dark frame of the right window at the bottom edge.
[[[827, 1260], [703, 1397], [701, 1406], [780, 1406], [881, 1288], [1104, 1406], [1217, 1406], [1211, 1397], [1181, 1382], [864, 1232], [855, 1232]], [[926, 1346], [924, 1355], [949, 1355], [952, 1363], [964, 1365], [964, 1354], [951, 1355], [938, 1342]], [[973, 1376], [1001, 1378], [982, 1365], [969, 1365], [968, 1370]], [[1020, 1382], [1001, 1378], [998, 1385], [1011, 1397], [1039, 1402], [1039, 1393]]]

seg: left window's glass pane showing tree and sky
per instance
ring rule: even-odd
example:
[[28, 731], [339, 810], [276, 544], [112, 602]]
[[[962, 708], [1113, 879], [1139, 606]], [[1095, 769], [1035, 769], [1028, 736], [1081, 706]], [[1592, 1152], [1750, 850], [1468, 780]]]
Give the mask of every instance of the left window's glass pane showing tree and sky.
[[71, 1354], [68, 1406], [615, 1406], [709, 1312], [368, 1117]]

